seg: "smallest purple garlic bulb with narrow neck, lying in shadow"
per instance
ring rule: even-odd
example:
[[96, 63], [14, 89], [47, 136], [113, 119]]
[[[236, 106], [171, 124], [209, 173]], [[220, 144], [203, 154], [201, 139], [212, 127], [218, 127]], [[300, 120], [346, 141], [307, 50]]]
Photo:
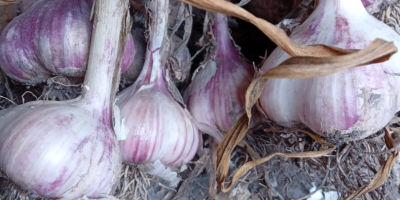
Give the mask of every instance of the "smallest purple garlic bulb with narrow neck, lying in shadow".
[[184, 96], [199, 123], [227, 132], [244, 112], [244, 94], [254, 70], [232, 44], [225, 15], [215, 14], [213, 33], [216, 50], [198, 69]]

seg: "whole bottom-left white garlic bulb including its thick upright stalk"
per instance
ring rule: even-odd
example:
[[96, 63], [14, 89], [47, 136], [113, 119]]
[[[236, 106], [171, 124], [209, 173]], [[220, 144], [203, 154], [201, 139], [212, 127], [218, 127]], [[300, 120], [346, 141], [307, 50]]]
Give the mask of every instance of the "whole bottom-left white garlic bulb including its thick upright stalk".
[[96, 0], [93, 11], [84, 95], [0, 113], [0, 169], [17, 185], [49, 198], [97, 198], [119, 178], [111, 105], [123, 56], [119, 43], [128, 40], [128, 0]]

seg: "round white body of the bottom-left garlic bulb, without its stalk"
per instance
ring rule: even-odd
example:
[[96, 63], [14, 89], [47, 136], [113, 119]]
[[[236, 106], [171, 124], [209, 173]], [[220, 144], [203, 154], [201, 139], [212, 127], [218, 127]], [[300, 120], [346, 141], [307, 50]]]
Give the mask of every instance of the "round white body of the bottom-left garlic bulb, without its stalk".
[[121, 167], [118, 143], [104, 122], [109, 113], [86, 107], [37, 101], [0, 113], [0, 169], [49, 198], [110, 193]]

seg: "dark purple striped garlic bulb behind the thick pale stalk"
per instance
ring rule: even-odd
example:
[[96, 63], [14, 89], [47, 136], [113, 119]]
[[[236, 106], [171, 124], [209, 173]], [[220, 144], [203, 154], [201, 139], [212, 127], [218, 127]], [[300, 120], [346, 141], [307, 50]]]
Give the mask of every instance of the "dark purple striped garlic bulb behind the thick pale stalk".
[[[0, 67], [12, 79], [36, 84], [52, 75], [83, 76], [88, 63], [93, 0], [40, 0], [0, 35]], [[132, 63], [129, 40], [122, 71]]]

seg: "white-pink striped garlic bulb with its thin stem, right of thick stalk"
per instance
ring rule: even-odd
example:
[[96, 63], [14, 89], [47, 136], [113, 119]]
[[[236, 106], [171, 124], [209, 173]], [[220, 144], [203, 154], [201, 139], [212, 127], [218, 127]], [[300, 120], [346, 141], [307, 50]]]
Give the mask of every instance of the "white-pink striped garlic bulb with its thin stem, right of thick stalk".
[[[144, 68], [136, 82], [121, 92], [117, 105], [122, 128], [119, 144], [127, 163], [161, 161], [174, 165], [190, 161], [199, 133], [186, 110], [168, 90], [163, 64], [168, 24], [168, 0], [151, 4], [152, 21]], [[160, 49], [161, 48], [161, 49]], [[118, 134], [118, 132], [117, 132]]]

